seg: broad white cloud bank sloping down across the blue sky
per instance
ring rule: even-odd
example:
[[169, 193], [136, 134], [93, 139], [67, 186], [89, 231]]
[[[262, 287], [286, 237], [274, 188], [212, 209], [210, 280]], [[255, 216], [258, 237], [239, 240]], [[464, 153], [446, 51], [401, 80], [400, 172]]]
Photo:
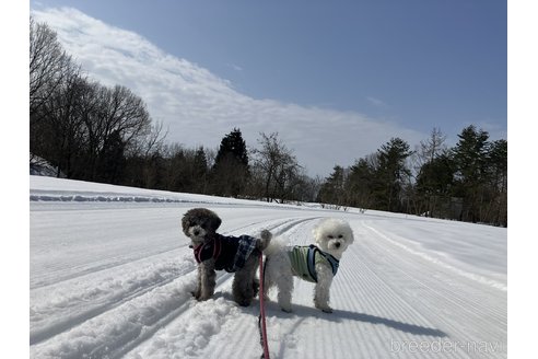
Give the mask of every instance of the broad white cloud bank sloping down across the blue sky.
[[411, 146], [428, 137], [353, 112], [249, 97], [209, 70], [75, 9], [32, 13], [57, 31], [66, 50], [92, 78], [140, 95], [152, 117], [169, 128], [169, 142], [217, 148], [238, 127], [247, 144], [256, 147], [259, 132], [278, 131], [311, 175], [325, 176], [335, 164], [350, 165], [391, 137]]

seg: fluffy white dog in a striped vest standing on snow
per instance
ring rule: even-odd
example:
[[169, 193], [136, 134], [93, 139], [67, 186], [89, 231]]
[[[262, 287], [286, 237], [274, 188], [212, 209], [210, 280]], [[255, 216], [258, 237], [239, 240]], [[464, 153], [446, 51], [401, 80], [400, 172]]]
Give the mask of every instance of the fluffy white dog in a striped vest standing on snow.
[[314, 304], [331, 313], [329, 291], [337, 274], [340, 258], [353, 243], [353, 231], [340, 219], [325, 219], [314, 230], [316, 245], [288, 246], [282, 240], [271, 241], [266, 254], [264, 294], [277, 286], [278, 303], [282, 311], [291, 312], [293, 276], [315, 282]]

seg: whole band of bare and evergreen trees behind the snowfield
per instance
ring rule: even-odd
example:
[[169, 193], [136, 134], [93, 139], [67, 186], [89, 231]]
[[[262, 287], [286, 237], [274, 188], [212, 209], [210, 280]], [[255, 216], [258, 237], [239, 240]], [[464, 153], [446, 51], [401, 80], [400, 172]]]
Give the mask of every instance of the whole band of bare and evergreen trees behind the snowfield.
[[507, 141], [472, 125], [453, 148], [437, 128], [413, 150], [391, 138], [326, 178], [306, 175], [278, 134], [247, 147], [234, 128], [218, 149], [189, 149], [166, 143], [162, 128], [140, 96], [90, 80], [57, 34], [31, 19], [31, 166], [43, 159], [73, 180], [507, 227]]

